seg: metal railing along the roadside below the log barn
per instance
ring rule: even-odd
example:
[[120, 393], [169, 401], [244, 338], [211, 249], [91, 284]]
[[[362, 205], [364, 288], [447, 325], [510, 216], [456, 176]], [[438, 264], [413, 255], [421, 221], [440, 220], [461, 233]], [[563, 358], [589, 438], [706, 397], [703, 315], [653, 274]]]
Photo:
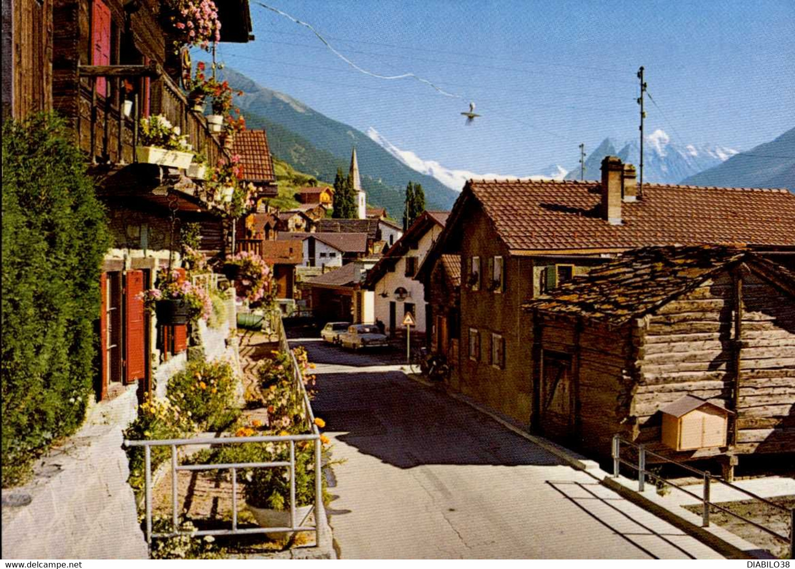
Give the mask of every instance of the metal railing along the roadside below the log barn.
[[[638, 450], [638, 462], [630, 462], [624, 458], [621, 458], [621, 449], [623, 446], [630, 446]], [[684, 489], [679, 485], [674, 484], [671, 481], [666, 480], [665, 478], [651, 472], [650, 470], [646, 469], [646, 456], [650, 455], [662, 462], [668, 462], [669, 464], [674, 464], [680, 466], [684, 470], [695, 474], [697, 477], [700, 477], [703, 480], [703, 493], [702, 495], [698, 495], [696, 493], [691, 492], [690, 490]], [[621, 465], [629, 466], [633, 470], [638, 471], [638, 492], [643, 492], [646, 489], [646, 477], [652, 478], [657, 483], [660, 483], [665, 486], [673, 487], [674, 489], [679, 490], [687, 494], [690, 497], [696, 498], [696, 500], [701, 502], [701, 525], [704, 528], [708, 528], [710, 524], [710, 510], [712, 508], [717, 509], [721, 512], [725, 512], [730, 516], [734, 516], [739, 520], [743, 520], [747, 524], [754, 526], [761, 530], [762, 532], [767, 533], [770, 536], [773, 536], [777, 540], [781, 540], [785, 543], [789, 543], [789, 559], [795, 559], [795, 509], [788, 509], [782, 505], [778, 505], [775, 502], [767, 500], [758, 494], [750, 492], [747, 489], [740, 488], [738, 485], [731, 484], [731, 482], [727, 482], [723, 480], [721, 477], [717, 477], [713, 474], [710, 474], [709, 470], [698, 470], [697, 468], [693, 468], [692, 466], [688, 466], [684, 464], [684, 462], [679, 462], [674, 460], [673, 458], [665, 457], [661, 454], [657, 454], [651, 450], [646, 449], [646, 447], [642, 444], [638, 444], [636, 442], [627, 441], [625, 438], [621, 438], [621, 435], [614, 435], [613, 436], [613, 445], [611, 449], [611, 456], [613, 458], [613, 476], [619, 477], [619, 471], [621, 469]], [[715, 502], [710, 500], [710, 493], [712, 490], [712, 482], [718, 482], [724, 486], [727, 486], [731, 489], [734, 489], [740, 493], [745, 494], [746, 496], [750, 497], [753, 500], [760, 501], [765, 505], [770, 506], [773, 509], [781, 510], [781, 512], [785, 512], [789, 514], [789, 536], [782, 536], [780, 533], [767, 528], [762, 524], [758, 524], [754, 520], [749, 520], [745, 516], [741, 516], [738, 513], [732, 512], [730, 509], [723, 508], [723, 506], [716, 504]]]

